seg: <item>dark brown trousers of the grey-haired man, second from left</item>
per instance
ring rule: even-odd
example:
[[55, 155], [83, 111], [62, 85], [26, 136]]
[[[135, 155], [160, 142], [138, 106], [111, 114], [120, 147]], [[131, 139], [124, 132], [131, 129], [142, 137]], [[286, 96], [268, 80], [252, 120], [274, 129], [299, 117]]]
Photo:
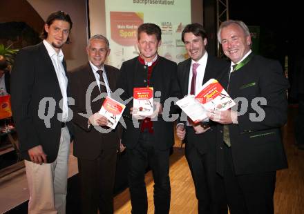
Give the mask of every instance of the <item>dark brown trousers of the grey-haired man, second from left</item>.
[[117, 150], [103, 150], [95, 160], [78, 158], [82, 213], [113, 213]]

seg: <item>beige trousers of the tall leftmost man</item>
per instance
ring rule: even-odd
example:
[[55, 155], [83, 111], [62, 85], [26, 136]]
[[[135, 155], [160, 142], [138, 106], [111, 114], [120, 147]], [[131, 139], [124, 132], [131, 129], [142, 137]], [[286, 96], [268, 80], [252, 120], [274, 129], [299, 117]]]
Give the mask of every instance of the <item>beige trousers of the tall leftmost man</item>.
[[26, 177], [30, 191], [28, 213], [66, 213], [66, 188], [68, 180], [68, 155], [70, 134], [61, 128], [58, 156], [51, 164], [34, 164], [25, 161]]

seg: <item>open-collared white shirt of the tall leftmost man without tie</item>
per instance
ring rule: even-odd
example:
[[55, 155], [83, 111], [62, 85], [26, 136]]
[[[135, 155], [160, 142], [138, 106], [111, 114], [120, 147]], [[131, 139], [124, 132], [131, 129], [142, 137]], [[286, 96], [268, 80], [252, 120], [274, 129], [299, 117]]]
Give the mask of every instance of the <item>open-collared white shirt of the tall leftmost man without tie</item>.
[[60, 50], [57, 54], [53, 46], [51, 46], [48, 41], [44, 39], [43, 42], [44, 46], [46, 46], [48, 55], [50, 56], [50, 59], [52, 60], [53, 66], [55, 68], [59, 87], [61, 90], [61, 95], [63, 98], [62, 121], [66, 121], [68, 119], [68, 96], [66, 94], [66, 90], [68, 88], [68, 78], [66, 77], [66, 72], [64, 71], [64, 66], [62, 64], [62, 61], [64, 59], [64, 53], [62, 52], [62, 50]]

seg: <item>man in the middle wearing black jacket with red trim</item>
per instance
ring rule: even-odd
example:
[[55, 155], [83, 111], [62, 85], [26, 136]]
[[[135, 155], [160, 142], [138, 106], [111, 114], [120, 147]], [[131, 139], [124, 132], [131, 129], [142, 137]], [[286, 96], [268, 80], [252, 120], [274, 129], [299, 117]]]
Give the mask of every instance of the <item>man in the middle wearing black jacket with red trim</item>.
[[176, 64], [158, 55], [161, 33], [160, 27], [154, 23], [143, 23], [138, 28], [137, 46], [140, 56], [122, 64], [117, 86], [124, 90], [124, 100], [133, 96], [133, 88], [148, 86], [153, 87], [155, 100], [158, 100], [158, 109], [152, 118], [137, 117], [140, 119], [139, 126], [136, 126], [135, 119], [132, 118], [132, 101], [126, 105], [124, 113], [126, 130], [122, 135], [122, 143], [126, 144], [129, 158], [129, 187], [132, 213], [135, 214], [147, 213], [148, 210], [144, 183], [148, 164], [155, 182], [155, 213], [169, 213], [170, 209], [169, 153], [174, 144], [174, 134], [173, 121], [165, 121], [164, 117], [173, 113], [174, 106], [169, 102], [166, 102], [168, 106], [164, 106], [164, 103], [169, 97], [179, 97], [180, 89], [176, 78]]

